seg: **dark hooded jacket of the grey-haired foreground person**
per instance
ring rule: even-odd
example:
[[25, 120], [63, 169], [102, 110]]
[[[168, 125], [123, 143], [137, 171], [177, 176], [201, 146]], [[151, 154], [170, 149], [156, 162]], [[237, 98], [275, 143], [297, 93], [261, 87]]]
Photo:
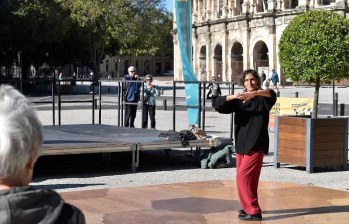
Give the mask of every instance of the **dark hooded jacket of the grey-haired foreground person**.
[[85, 218], [55, 191], [12, 187], [0, 191], [0, 224], [85, 224]]

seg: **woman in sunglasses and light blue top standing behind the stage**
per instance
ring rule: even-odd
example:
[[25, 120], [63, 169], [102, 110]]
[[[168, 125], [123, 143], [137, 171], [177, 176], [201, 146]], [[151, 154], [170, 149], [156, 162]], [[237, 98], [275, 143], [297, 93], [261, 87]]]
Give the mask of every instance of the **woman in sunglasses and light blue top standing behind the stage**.
[[144, 93], [143, 93], [143, 125], [142, 128], [148, 127], [148, 113], [150, 116], [150, 127], [155, 129], [155, 109], [156, 102], [155, 96], [160, 96], [160, 90], [157, 85], [153, 83], [153, 76], [146, 75], [146, 83], [144, 85]]

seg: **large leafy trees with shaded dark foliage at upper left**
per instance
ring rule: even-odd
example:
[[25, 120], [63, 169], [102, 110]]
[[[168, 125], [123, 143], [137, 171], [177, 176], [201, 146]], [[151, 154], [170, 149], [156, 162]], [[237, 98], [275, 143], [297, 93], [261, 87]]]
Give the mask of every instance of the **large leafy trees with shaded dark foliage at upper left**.
[[0, 65], [15, 62], [20, 50], [23, 73], [44, 62], [72, 63], [88, 66], [99, 78], [106, 54], [169, 53], [172, 16], [163, 1], [2, 0]]

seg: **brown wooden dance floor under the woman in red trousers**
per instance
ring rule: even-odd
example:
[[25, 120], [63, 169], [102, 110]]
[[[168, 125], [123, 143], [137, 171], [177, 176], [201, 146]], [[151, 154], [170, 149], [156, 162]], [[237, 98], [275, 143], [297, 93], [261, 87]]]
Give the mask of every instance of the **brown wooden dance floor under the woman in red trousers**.
[[262, 222], [240, 221], [235, 181], [205, 181], [65, 192], [88, 224], [348, 224], [349, 192], [259, 183]]

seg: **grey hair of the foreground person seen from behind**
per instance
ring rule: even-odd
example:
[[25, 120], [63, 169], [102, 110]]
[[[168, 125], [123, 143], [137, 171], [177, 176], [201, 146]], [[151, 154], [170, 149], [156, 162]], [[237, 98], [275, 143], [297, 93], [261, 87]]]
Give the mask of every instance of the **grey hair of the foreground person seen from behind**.
[[42, 126], [27, 99], [11, 86], [0, 86], [0, 178], [20, 173], [30, 157], [39, 157]]

